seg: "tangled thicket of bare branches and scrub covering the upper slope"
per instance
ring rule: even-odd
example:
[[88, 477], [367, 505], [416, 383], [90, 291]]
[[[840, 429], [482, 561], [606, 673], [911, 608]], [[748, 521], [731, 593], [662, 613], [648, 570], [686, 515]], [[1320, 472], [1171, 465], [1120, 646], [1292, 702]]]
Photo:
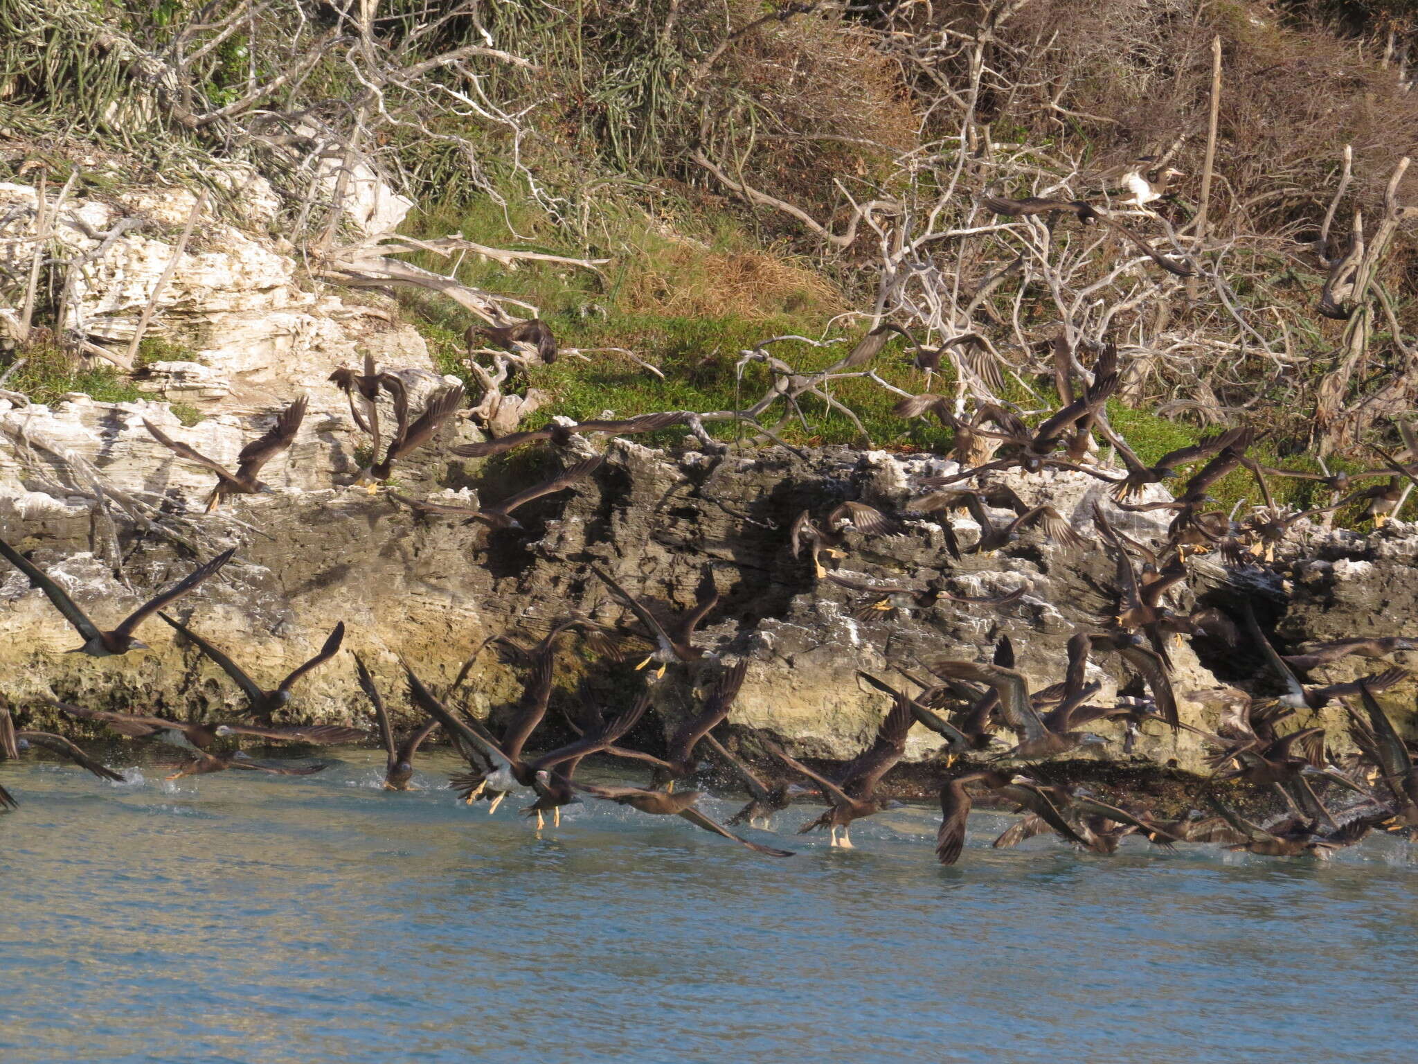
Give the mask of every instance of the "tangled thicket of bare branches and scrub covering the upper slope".
[[[1354, 451], [1418, 393], [1404, 3], [0, 0], [0, 30], [11, 165], [109, 153], [218, 201], [218, 165], [248, 165], [319, 277], [432, 288], [486, 321], [519, 304], [427, 264], [498, 250], [356, 233], [360, 173], [425, 207], [498, 204], [513, 234], [530, 203], [581, 267], [615, 251], [614, 217], [735, 204], [856, 319], [925, 348], [978, 338], [942, 355], [957, 410], [1046, 386], [1059, 335], [1085, 372], [1116, 343], [1132, 404], [1244, 410], [1282, 447]], [[1140, 156], [1183, 176], [1129, 207]], [[1086, 200], [1109, 224], [1000, 216], [986, 193]], [[756, 360], [794, 392], [791, 366]]]

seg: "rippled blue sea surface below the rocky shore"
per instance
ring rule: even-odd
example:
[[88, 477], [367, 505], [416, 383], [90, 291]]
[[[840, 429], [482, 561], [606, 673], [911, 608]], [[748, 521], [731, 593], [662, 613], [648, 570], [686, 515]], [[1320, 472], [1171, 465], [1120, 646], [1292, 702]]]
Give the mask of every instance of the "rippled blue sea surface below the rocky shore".
[[[1418, 867], [1371, 838], [1320, 864], [1126, 840], [988, 848], [939, 813], [749, 853], [590, 802], [537, 833], [509, 800], [309, 777], [0, 783], [0, 1061], [1418, 1060]], [[737, 802], [705, 800], [715, 816]]]

